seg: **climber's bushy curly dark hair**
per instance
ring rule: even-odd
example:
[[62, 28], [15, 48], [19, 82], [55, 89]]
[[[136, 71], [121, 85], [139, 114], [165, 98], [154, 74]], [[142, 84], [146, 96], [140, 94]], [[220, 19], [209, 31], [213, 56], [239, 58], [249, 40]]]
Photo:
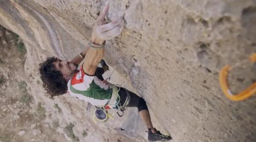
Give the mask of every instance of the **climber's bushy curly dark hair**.
[[52, 62], [59, 61], [57, 57], [49, 57], [43, 63], [39, 64], [39, 72], [41, 80], [43, 81], [44, 89], [50, 95], [50, 99], [54, 99], [54, 96], [63, 95], [67, 93], [67, 81], [63, 77], [60, 71], [55, 70]]

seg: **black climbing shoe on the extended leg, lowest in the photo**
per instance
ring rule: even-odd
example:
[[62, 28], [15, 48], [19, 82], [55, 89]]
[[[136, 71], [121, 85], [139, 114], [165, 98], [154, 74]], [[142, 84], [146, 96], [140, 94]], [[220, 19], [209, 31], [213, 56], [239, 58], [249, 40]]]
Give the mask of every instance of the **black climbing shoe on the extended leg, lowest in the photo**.
[[[154, 128], [154, 129], [157, 131], [156, 128]], [[172, 139], [171, 136], [165, 136], [165, 135], [161, 134], [160, 131], [157, 131], [157, 133], [152, 133], [151, 128], [148, 129], [148, 141], [149, 142], [155, 142], [155, 141], [166, 142], [171, 139]]]

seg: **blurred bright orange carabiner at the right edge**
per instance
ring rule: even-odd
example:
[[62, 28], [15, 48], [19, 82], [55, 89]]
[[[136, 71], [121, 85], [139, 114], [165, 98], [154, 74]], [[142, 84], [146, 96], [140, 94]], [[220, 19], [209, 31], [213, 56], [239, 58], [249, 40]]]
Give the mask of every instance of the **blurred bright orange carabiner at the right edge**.
[[[253, 53], [249, 59], [251, 62], [256, 62], [256, 53]], [[226, 95], [230, 100], [241, 101], [256, 93], [256, 82], [254, 82], [251, 86], [249, 86], [247, 89], [243, 90], [239, 94], [232, 94], [227, 84], [227, 75], [229, 70], [231, 70], [231, 67], [229, 65], [226, 65], [221, 69], [219, 73], [219, 84], [221, 86], [222, 92], [224, 92], [224, 95]]]

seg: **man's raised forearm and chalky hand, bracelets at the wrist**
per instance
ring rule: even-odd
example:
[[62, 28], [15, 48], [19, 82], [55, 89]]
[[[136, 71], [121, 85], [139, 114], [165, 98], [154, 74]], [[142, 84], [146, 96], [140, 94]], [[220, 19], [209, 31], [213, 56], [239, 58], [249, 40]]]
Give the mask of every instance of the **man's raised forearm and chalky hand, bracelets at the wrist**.
[[[96, 20], [95, 25], [93, 26], [93, 31], [91, 35], [91, 42], [94, 45], [102, 45], [104, 44], [105, 40], [113, 39], [114, 37], [118, 36], [123, 28], [123, 20], [117, 19], [113, 22], [108, 24], [104, 24], [105, 15], [108, 13], [109, 6], [107, 5], [102, 13]], [[83, 70], [87, 75], [94, 75], [97, 65], [99, 61], [102, 60], [104, 55], [104, 47], [100, 46], [97, 48], [88, 47], [87, 53], [85, 55], [85, 60], [83, 64]]]

